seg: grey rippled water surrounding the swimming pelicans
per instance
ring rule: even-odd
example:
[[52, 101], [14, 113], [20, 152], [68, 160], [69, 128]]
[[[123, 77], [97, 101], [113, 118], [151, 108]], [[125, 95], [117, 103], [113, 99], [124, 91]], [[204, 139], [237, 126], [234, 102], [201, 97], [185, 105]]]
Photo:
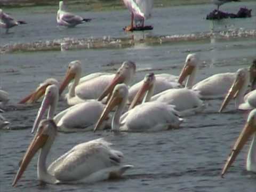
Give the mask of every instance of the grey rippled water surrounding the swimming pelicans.
[[[242, 3], [223, 6], [228, 11], [237, 10]], [[255, 29], [255, 6], [251, 19], [234, 19], [214, 22], [214, 30], [225, 27]], [[190, 8], [190, 9], [188, 9]], [[211, 21], [203, 18], [211, 10], [211, 5], [182, 6], [155, 9], [155, 29], [144, 35], [191, 34], [210, 31]], [[180, 13], [182, 11], [182, 14]], [[13, 42], [35, 42], [63, 37], [125, 37], [119, 29], [127, 23], [127, 13], [91, 13], [95, 21], [74, 29], [53, 28], [53, 14], [35, 14], [30, 23], [40, 20], [41, 26], [14, 28], [14, 34], [1, 38], [1, 45]], [[118, 14], [119, 17], [115, 16]], [[95, 16], [94, 16], [95, 15]], [[112, 15], [110, 19], [109, 15]], [[166, 17], [168, 15], [168, 17]], [[193, 15], [193, 17], [191, 16]], [[181, 17], [182, 16], [182, 17]], [[24, 18], [29, 19], [24, 13]], [[47, 19], [46, 19], [47, 18]], [[54, 16], [55, 18], [55, 16]], [[177, 19], [178, 18], [178, 19]], [[161, 22], [157, 22], [160, 20]], [[47, 23], [47, 25], [46, 25]], [[47, 26], [43, 29], [43, 26]], [[99, 30], [99, 28], [103, 28]], [[43, 30], [41, 30], [43, 29]], [[86, 31], [86, 33], [81, 33]], [[2, 35], [2, 34], [1, 34]], [[20, 37], [22, 36], [22, 39]], [[143, 33], [135, 33], [141, 38]], [[196, 81], [224, 71], [236, 71], [248, 67], [256, 56], [255, 38], [207, 38], [198, 41], [166, 42], [150, 44], [135, 42], [118, 49], [78, 49], [71, 51], [17, 52], [0, 55], [1, 86], [10, 93], [10, 106], [17, 103], [28, 92], [47, 77], [62, 79], [69, 61], [82, 61], [83, 74], [95, 71], [115, 71], [124, 60], [137, 63], [138, 73], [134, 82], [139, 81], [146, 71], [179, 74], [189, 52], [197, 52], [202, 59]], [[114, 143], [114, 148], [123, 151], [125, 163], [134, 169], [126, 172], [124, 179], [99, 182], [92, 185], [39, 185], [36, 173], [36, 158], [28, 166], [17, 188], [12, 188], [13, 177], [30, 142], [31, 125], [39, 104], [23, 110], [9, 110], [4, 116], [12, 123], [11, 129], [0, 130], [0, 191], [254, 191], [256, 175], [245, 171], [248, 146], [238, 156], [234, 166], [221, 179], [220, 172], [229, 154], [230, 147], [238, 136], [247, 114], [235, 111], [234, 105], [228, 112], [218, 114], [221, 100], [209, 100], [209, 107], [202, 113], [187, 117], [181, 129], [157, 133], [59, 133], [51, 153], [49, 163], [65, 153], [77, 143], [104, 137]], [[59, 110], [65, 102], [60, 102]], [[85, 114], [86, 115], [86, 114]]]

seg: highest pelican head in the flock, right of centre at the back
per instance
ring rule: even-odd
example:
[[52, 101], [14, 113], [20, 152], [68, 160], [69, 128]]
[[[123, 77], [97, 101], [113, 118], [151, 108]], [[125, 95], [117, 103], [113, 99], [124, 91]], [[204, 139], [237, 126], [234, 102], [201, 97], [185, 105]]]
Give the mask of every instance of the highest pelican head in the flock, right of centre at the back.
[[199, 58], [196, 53], [191, 53], [187, 55], [185, 65], [180, 73], [178, 80], [180, 84], [182, 84], [185, 81], [185, 79], [189, 76], [186, 87], [192, 86], [198, 63]]

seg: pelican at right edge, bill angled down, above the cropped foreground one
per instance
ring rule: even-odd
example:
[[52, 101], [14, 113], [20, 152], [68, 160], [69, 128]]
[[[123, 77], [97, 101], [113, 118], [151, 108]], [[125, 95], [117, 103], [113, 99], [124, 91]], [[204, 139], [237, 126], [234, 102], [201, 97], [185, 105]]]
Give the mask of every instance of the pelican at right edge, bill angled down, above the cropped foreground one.
[[[235, 98], [235, 105], [237, 109], [249, 110], [256, 107], [255, 91], [244, 95], [250, 84], [250, 73], [247, 68], [238, 69], [235, 81], [230, 87], [226, 98], [224, 99], [219, 112], [221, 113], [223, 109], [228, 105], [231, 99]], [[254, 107], [255, 106], [255, 107]]]

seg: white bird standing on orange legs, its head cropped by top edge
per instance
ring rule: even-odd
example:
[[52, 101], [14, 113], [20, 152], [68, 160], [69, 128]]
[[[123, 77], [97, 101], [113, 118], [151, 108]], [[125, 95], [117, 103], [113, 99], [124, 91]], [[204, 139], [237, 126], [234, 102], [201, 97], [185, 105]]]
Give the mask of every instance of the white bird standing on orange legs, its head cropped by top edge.
[[[125, 31], [133, 31], [134, 25], [133, 20], [135, 20], [136, 27], [144, 28], [144, 20], [151, 17], [151, 11], [153, 9], [153, 0], [123, 0], [125, 6], [131, 12], [131, 25], [125, 27]], [[140, 26], [137, 22], [140, 21]]]

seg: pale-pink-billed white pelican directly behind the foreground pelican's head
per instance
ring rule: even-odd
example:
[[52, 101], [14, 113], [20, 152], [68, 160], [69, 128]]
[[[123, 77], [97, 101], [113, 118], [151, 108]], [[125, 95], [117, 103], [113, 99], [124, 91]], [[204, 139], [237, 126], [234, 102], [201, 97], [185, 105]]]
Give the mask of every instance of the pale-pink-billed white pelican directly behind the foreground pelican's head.
[[[57, 124], [58, 130], [62, 132], [93, 130], [104, 109], [104, 105], [101, 102], [92, 100], [69, 107], [54, 116], [58, 100], [58, 87], [56, 85], [48, 86], [45, 91], [42, 105], [38, 110], [32, 132], [34, 132], [38, 126], [47, 108], [49, 108], [47, 118], [53, 118], [54, 122]], [[104, 129], [106, 126], [106, 122], [104, 122], [101, 129]]]

